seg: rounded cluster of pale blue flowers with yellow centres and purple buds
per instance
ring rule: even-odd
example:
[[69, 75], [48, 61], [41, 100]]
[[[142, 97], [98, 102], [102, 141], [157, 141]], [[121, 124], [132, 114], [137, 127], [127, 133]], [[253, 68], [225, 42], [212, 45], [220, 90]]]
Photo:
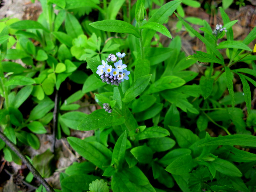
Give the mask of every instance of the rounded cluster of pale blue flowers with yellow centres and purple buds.
[[[116, 56], [119, 58], [117, 61]], [[102, 82], [107, 82], [107, 84], [116, 85], [118, 86], [121, 82], [128, 80], [128, 75], [130, 71], [127, 71], [125, 68], [127, 67], [123, 64], [122, 58], [124, 58], [125, 53], [121, 54], [120, 52], [114, 54], [109, 54], [108, 58], [106, 59], [107, 62], [104, 60], [101, 61], [102, 65], [98, 66], [98, 70], [96, 73], [102, 79]], [[112, 68], [112, 65], [108, 65], [108, 62], [114, 62], [115, 68]]]

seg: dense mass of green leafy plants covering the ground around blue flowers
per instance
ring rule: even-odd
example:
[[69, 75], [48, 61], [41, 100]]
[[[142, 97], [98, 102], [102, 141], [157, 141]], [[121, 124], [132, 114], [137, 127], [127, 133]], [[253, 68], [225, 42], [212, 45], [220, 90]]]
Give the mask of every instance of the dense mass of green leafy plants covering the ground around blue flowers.
[[[29, 164], [26, 181], [39, 178], [37, 192], [256, 190], [256, 56], [249, 45], [256, 28], [235, 41], [238, 20], [224, 11], [230, 2], [218, 8], [222, 25], [214, 27], [185, 17], [184, 4], [201, 6], [193, 0], [40, 3], [37, 21], [0, 20], [0, 149], [6, 161]], [[181, 37], [164, 25], [170, 16], [206, 51], [186, 55]], [[201, 32], [188, 22], [199, 22]], [[159, 34], [172, 39], [167, 47]], [[203, 65], [203, 74], [193, 65]], [[234, 91], [234, 78], [243, 91]], [[68, 94], [66, 81], [76, 87]], [[85, 94], [101, 107], [89, 115], [76, 102]], [[94, 135], [80, 139], [72, 129]], [[37, 134], [47, 132], [51, 149], [22, 156], [18, 148], [39, 149]], [[61, 189], [53, 189], [43, 178], [56, 169], [55, 138], [63, 137], [83, 161], [61, 172]]]

